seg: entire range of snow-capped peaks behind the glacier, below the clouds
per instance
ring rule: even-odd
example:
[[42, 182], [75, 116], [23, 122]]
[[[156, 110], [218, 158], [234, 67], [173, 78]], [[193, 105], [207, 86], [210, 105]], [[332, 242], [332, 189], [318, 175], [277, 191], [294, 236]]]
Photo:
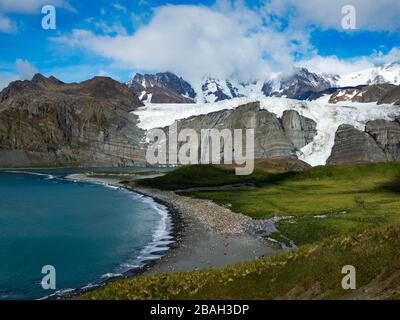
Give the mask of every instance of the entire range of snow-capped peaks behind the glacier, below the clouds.
[[[374, 66], [357, 73], [347, 75], [330, 75], [310, 72], [306, 68], [294, 68], [292, 72], [275, 75], [270, 80], [252, 83], [241, 83], [233, 79], [217, 79], [205, 77], [196, 84], [187, 81], [171, 72], [155, 75], [137, 74], [127, 83], [142, 101], [152, 103], [213, 103], [234, 98], [286, 97], [297, 100], [315, 100], [322, 95], [334, 95], [338, 90], [350, 90], [346, 93], [348, 100], [353, 99], [352, 90], [359, 86], [400, 84], [400, 62], [382, 66]], [[377, 95], [372, 88], [373, 96]], [[365, 100], [358, 92], [358, 100]], [[371, 100], [371, 99], [367, 99]], [[379, 100], [379, 99], [378, 99]]]

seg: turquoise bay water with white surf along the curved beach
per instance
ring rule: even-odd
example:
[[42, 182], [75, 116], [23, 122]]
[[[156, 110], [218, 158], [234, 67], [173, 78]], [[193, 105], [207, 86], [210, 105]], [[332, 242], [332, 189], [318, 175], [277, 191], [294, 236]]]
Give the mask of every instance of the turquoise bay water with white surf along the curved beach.
[[[43, 173], [43, 172], [41, 172]], [[42, 267], [56, 291], [143, 266], [168, 249], [163, 206], [126, 190], [53, 176], [0, 171], [0, 299], [37, 299]]]

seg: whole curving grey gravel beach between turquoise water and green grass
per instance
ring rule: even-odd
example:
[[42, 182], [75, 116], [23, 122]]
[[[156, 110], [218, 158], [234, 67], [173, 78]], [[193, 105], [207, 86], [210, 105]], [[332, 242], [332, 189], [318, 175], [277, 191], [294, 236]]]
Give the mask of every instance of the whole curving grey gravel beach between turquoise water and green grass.
[[122, 277], [110, 278], [100, 282], [98, 286], [76, 289], [53, 299], [79, 299], [81, 295], [98, 287], [131, 276], [221, 268], [280, 251], [246, 231], [246, 225], [252, 221], [250, 217], [233, 213], [214, 202], [177, 195], [172, 191], [139, 186], [127, 187], [119, 180], [111, 178], [72, 174], [65, 179], [110, 185], [152, 198], [167, 209], [172, 222], [170, 233], [173, 243], [168, 245], [168, 250], [162, 257], [146, 262], [141, 268], [126, 272]]

